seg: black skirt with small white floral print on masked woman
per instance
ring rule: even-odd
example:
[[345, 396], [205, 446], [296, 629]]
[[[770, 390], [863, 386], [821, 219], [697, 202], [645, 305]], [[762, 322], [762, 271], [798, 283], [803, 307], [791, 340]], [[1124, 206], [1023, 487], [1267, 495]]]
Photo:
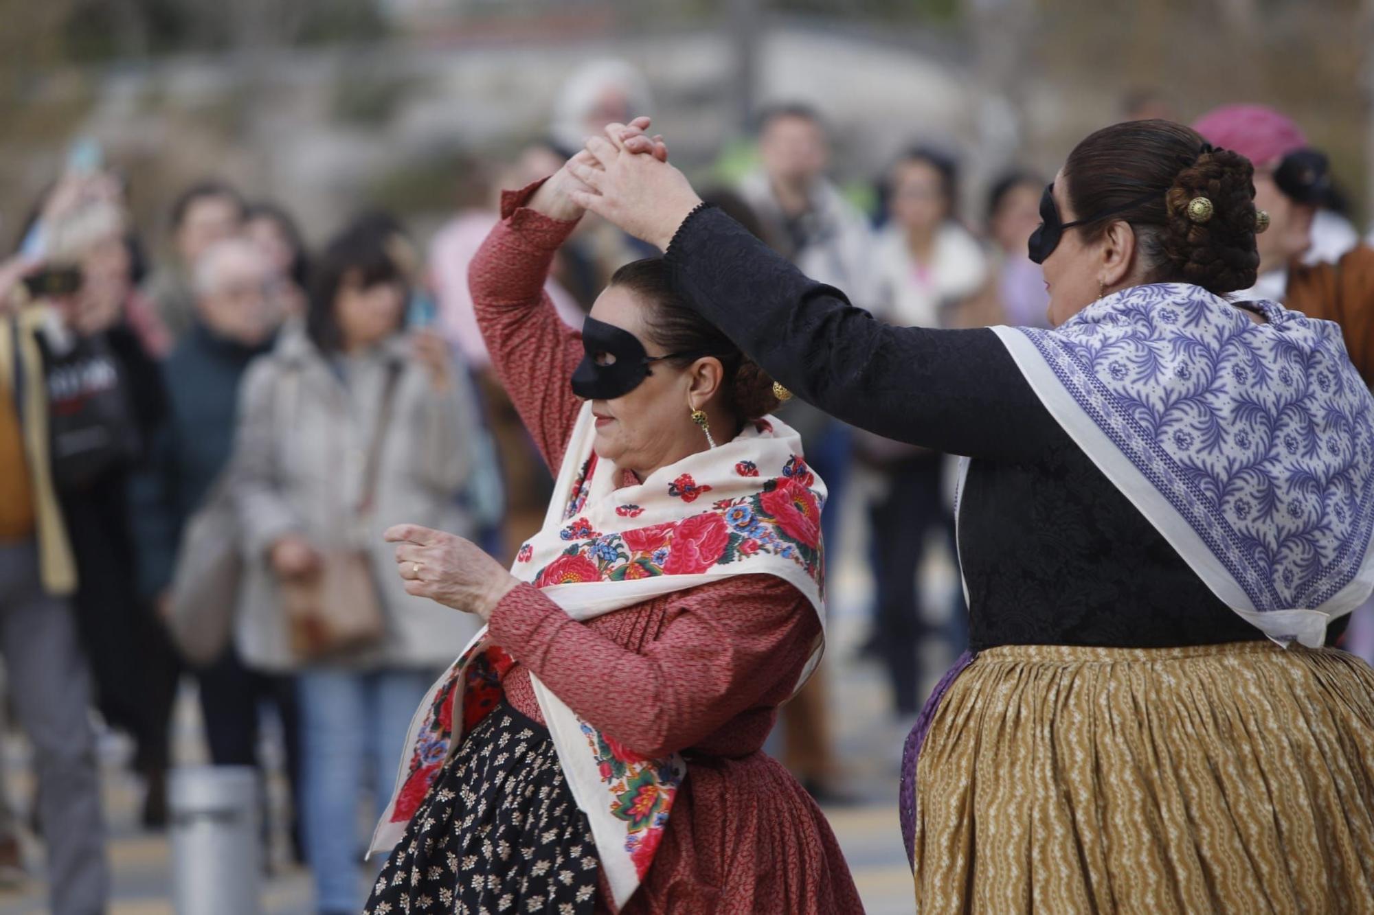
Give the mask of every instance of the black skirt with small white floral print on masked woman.
[[502, 702], [440, 769], [364, 915], [587, 915], [599, 868], [548, 730]]

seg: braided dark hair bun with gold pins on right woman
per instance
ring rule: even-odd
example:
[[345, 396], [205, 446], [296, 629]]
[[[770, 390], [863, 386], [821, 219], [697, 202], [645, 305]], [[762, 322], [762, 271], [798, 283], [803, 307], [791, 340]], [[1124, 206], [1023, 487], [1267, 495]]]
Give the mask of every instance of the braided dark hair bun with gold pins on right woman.
[[[1260, 256], [1253, 177], [1243, 155], [1210, 147], [1179, 172], [1165, 196], [1168, 220], [1160, 238], [1171, 273], [1217, 295], [1254, 286]], [[1189, 216], [1198, 196], [1212, 203], [1212, 216], [1202, 223]]]

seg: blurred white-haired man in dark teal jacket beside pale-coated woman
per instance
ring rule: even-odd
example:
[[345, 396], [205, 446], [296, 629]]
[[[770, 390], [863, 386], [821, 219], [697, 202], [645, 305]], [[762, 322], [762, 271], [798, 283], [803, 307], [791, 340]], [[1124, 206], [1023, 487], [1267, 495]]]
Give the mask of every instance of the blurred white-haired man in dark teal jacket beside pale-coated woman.
[[[239, 381], [272, 348], [283, 313], [280, 283], [261, 250], [239, 236], [216, 242], [195, 262], [192, 321], [164, 363], [168, 419], [132, 486], [140, 591], [148, 600], [165, 599], [181, 533], [228, 464]], [[290, 681], [250, 672], [232, 646], [198, 676], [213, 762], [257, 764], [258, 703], [265, 698], [282, 714], [294, 775]]]

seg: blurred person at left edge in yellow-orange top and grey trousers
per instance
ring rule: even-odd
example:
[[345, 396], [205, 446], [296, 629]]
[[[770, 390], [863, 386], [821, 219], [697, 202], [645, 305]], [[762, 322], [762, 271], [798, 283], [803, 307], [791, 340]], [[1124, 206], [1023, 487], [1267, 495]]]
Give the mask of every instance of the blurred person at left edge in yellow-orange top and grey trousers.
[[62, 319], [18, 282], [37, 267], [0, 268], [0, 655], [34, 747], [52, 911], [89, 915], [104, 910], [109, 871], [91, 673], [71, 606], [77, 562], [51, 455], [44, 352]]

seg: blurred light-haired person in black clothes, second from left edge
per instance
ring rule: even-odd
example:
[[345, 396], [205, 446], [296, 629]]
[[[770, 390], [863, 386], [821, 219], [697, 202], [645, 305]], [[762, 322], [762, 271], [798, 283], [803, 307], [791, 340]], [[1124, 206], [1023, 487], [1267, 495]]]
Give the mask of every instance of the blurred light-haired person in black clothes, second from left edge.
[[44, 216], [49, 262], [77, 284], [51, 300], [62, 332], [44, 354], [54, 479], [77, 561], [74, 609], [96, 706], [133, 738], [133, 768], [147, 786], [143, 822], [161, 827], [179, 664], [137, 596], [128, 482], [166, 400], [154, 354], [129, 320], [136, 291], [126, 232], [125, 212], [104, 196]]

